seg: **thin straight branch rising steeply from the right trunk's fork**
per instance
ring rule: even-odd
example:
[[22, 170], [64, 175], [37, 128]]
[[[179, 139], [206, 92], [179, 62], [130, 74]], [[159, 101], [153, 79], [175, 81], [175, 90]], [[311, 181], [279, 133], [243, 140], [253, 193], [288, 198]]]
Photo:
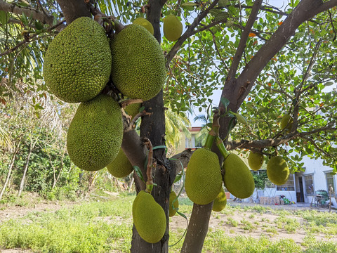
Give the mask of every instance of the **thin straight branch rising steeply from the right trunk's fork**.
[[239, 67], [242, 54], [244, 53], [244, 48], [246, 48], [249, 33], [251, 32], [251, 27], [253, 27], [261, 4], [262, 0], [256, 0], [254, 2], [253, 8], [251, 10], [251, 15], [249, 15], [246, 26], [244, 27], [244, 31], [242, 32], [241, 39], [239, 41], [239, 46], [237, 46], [237, 51], [235, 52], [235, 56], [233, 57], [232, 65], [230, 66], [230, 71], [228, 72], [227, 79], [234, 79], [235, 74], [237, 73], [237, 68]]

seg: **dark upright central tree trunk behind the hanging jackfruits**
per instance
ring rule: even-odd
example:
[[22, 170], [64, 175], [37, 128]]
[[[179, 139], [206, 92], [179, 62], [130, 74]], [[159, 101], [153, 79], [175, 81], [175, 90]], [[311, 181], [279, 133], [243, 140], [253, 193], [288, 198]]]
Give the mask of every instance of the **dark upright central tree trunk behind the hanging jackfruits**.
[[[154, 27], [154, 37], [157, 41], [161, 41], [160, 34], [160, 13], [166, 1], [150, 0], [150, 10], [147, 16]], [[157, 243], [151, 244], [145, 242], [140, 238], [136, 228], [133, 226], [133, 236], [131, 242], [131, 252], [135, 253], [150, 253], [150, 252], [169, 252], [169, 196], [171, 193], [171, 186], [176, 176], [176, 171], [169, 168], [169, 162], [166, 159], [165, 148], [165, 113], [163, 91], [161, 90], [157, 96], [147, 100], [143, 103], [145, 111], [150, 112], [150, 116], [142, 117], [140, 124], [140, 137], [149, 138], [153, 150], [153, 158], [157, 161], [157, 168], [153, 171], [154, 186], [152, 195], [161, 207], [163, 207], [166, 214], [166, 231], [164, 237]], [[159, 123], [160, 122], [160, 123]], [[157, 149], [156, 149], [157, 147]], [[143, 174], [146, 178], [146, 173]], [[146, 181], [146, 179], [145, 179]], [[143, 186], [140, 186], [139, 181], [135, 179], [137, 192]]]

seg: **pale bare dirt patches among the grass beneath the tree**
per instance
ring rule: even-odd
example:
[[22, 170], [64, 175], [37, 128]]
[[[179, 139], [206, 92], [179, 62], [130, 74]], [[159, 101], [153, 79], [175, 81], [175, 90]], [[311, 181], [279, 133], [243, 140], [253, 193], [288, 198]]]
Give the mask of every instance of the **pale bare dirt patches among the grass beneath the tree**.
[[[254, 206], [259, 205], [255, 203], [237, 203], [232, 202], [231, 200], [228, 201], [230, 205], [236, 206], [240, 205], [242, 207], [244, 206]], [[29, 207], [19, 207], [19, 206], [0, 206], [0, 223], [7, 221], [8, 219], [15, 219], [20, 218], [22, 216], [25, 216], [29, 212], [55, 212], [58, 209], [61, 209], [62, 207], [71, 207], [73, 205], [77, 205], [79, 202], [37, 202], [35, 204], [32, 204], [32, 206]], [[329, 209], [326, 207], [310, 207], [310, 204], [293, 204], [293, 205], [279, 205], [279, 206], [272, 206], [272, 205], [262, 205], [263, 207], [270, 207], [272, 209], [286, 209], [286, 210], [305, 210], [305, 209], [315, 209], [320, 212], [328, 212]], [[331, 212], [337, 211], [334, 209], [331, 209]], [[279, 229], [277, 228], [277, 233], [270, 233], [268, 232], [265, 227], [260, 225], [255, 225], [256, 228], [253, 230], [245, 230], [244, 224], [242, 221], [249, 221], [249, 223], [258, 224], [261, 222], [267, 223], [267, 226], [274, 226], [275, 219], [277, 219], [278, 215], [272, 214], [272, 212], [267, 212], [264, 214], [260, 214], [258, 212], [232, 212], [231, 214], [221, 214], [218, 212], [212, 212], [211, 219], [209, 222], [209, 231], [216, 231], [217, 228], [221, 228], [225, 233], [229, 236], [237, 236], [237, 235], [246, 235], [251, 236], [253, 238], [260, 238], [261, 235], [265, 235], [270, 240], [279, 240], [281, 238], [286, 239], [292, 239], [296, 243], [303, 242], [303, 239], [305, 238], [305, 231], [303, 228], [296, 229], [296, 233], [289, 233], [285, 229]], [[187, 216], [189, 218], [189, 216]], [[303, 218], [292, 216], [292, 218], [297, 219], [299, 223], [303, 223]], [[232, 226], [232, 224], [228, 223], [229, 219], [232, 221], [237, 221], [237, 226]], [[111, 219], [110, 219], [111, 221]], [[171, 217], [170, 222], [170, 229], [176, 230], [176, 231], [185, 231], [185, 228], [187, 226], [186, 220], [183, 219], [181, 216], [173, 216]], [[183, 233], [183, 232], [182, 232]], [[320, 240], [326, 240], [324, 238], [324, 235], [316, 235], [317, 239]], [[1, 253], [32, 253], [31, 250], [22, 250], [22, 249], [0, 249]]]

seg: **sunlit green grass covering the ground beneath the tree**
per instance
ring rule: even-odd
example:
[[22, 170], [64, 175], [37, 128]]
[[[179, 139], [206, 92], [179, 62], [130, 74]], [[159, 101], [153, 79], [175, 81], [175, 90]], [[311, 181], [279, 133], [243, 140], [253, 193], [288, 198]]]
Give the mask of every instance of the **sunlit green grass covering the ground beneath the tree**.
[[[31, 212], [21, 218], [4, 221], [0, 223], [0, 249], [32, 249], [41, 253], [129, 252], [134, 197], [125, 194], [109, 200], [96, 198], [95, 201], [82, 202], [55, 212]], [[181, 198], [179, 203], [179, 211], [190, 216], [192, 202]], [[231, 217], [236, 213], [242, 214], [243, 219]], [[263, 214], [273, 214], [277, 218], [267, 219]], [[220, 213], [214, 213], [213, 219], [220, 219], [220, 225], [209, 229], [203, 252], [337, 252], [336, 213], [312, 210], [289, 212], [270, 207], [228, 205]], [[249, 236], [258, 229], [263, 231], [259, 238]], [[296, 233], [298, 229], [306, 233], [301, 244], [291, 239], [275, 238], [281, 231]], [[249, 233], [237, 235], [238, 230]], [[170, 231], [170, 253], [180, 252], [184, 233], [185, 228]], [[320, 239], [317, 236], [321, 236]]]

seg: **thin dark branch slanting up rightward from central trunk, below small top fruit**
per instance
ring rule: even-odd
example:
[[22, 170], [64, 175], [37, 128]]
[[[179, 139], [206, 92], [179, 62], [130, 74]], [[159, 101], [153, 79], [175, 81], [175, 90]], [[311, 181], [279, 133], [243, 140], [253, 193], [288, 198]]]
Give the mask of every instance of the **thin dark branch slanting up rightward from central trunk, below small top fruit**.
[[169, 64], [173, 59], [173, 57], [178, 52], [179, 48], [183, 46], [185, 40], [192, 35], [192, 32], [194, 31], [195, 27], [199, 25], [199, 22], [201, 22], [201, 20], [206, 17], [209, 11], [211, 11], [211, 9], [214, 8], [216, 4], [218, 4], [218, 1], [219, 0], [214, 0], [213, 3], [209, 6], [209, 8], [206, 8], [206, 10], [202, 11], [199, 15], [197, 15], [197, 18], [194, 18], [192, 24], [187, 28], [184, 34], [181, 35], [178, 41], [176, 41], [176, 44], [174, 44], [174, 46], [171, 48], [171, 51], [169, 51], [169, 53], [167, 53], [166, 55], [166, 68], [169, 68]]

